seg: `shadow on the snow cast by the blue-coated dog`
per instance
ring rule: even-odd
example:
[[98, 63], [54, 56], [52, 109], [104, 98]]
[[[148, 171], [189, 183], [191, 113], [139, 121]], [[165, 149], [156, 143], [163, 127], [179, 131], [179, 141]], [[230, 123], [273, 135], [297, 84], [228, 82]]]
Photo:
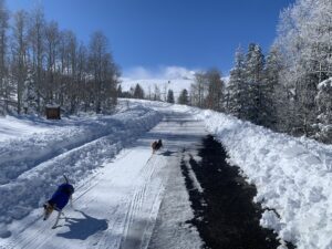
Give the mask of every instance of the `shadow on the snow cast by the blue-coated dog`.
[[81, 239], [85, 240], [90, 236], [97, 234], [98, 231], [104, 231], [108, 228], [106, 219], [96, 219], [83, 211], [76, 210], [83, 215], [83, 218], [65, 218], [66, 224], [70, 228], [69, 231], [63, 234], [58, 234], [56, 236], [66, 239]]

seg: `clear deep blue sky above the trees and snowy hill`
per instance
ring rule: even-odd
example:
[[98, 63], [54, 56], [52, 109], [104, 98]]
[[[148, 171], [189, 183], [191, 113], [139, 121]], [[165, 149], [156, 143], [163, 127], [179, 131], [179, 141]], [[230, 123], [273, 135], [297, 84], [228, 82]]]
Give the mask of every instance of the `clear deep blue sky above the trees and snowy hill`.
[[218, 68], [225, 75], [236, 48], [267, 52], [280, 11], [294, 0], [7, 0], [10, 10], [41, 3], [46, 20], [87, 42], [103, 31], [124, 74], [166, 66]]

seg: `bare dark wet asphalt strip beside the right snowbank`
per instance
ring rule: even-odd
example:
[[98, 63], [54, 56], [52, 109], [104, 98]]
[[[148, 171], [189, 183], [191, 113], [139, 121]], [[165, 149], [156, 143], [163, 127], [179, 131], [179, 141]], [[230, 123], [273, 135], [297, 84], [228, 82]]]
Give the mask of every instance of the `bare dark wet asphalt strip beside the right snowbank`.
[[[227, 154], [212, 136], [203, 139], [197, 162], [183, 152], [181, 172], [189, 193], [195, 218], [187, 222], [197, 227], [211, 249], [274, 249], [280, 246], [272, 230], [260, 227], [262, 208], [252, 198], [257, 190], [240, 176], [239, 168], [227, 164]], [[184, 159], [189, 156], [189, 166]], [[204, 191], [195, 187], [189, 169], [196, 175]], [[289, 249], [294, 247], [287, 245]]]

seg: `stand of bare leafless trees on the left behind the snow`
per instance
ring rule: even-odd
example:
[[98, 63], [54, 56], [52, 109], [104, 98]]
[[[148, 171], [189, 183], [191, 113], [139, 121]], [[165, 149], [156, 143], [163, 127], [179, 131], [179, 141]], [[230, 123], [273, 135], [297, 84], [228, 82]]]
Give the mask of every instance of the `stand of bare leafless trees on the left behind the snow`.
[[10, 13], [0, 1], [0, 113], [43, 114], [48, 105], [68, 114], [110, 113], [120, 77], [107, 38], [75, 33], [46, 21], [43, 9]]

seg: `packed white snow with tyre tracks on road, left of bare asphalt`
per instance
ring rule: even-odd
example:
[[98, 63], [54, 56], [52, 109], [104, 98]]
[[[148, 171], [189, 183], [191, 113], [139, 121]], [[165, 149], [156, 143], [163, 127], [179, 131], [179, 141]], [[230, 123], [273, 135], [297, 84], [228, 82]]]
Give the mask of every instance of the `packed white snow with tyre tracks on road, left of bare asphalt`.
[[[12, 235], [0, 243], [0, 248], [146, 248], [165, 188], [183, 181], [178, 152], [199, 143], [206, 134], [204, 131], [204, 123], [191, 115], [169, 112], [156, 127], [75, 186], [74, 210], [64, 209], [65, 218], [60, 220], [56, 229], [51, 229], [55, 215], [43, 221], [39, 208], [9, 225]], [[162, 138], [165, 146], [152, 155], [149, 145], [157, 138]], [[190, 248], [198, 248], [201, 245], [198, 232], [185, 226], [185, 221], [193, 218], [185, 186], [183, 183], [177, 186], [174, 191], [168, 189], [164, 200], [167, 201], [164, 212], [177, 212], [176, 219], [168, 221], [168, 229], [177, 229], [175, 234], [186, 238], [186, 243], [190, 241]], [[172, 224], [179, 221], [183, 227]], [[167, 227], [163, 229], [167, 231]], [[158, 231], [155, 234], [157, 237]], [[167, 237], [163, 238], [154, 241], [157, 248], [169, 242]], [[174, 248], [180, 248], [180, 245]]]

